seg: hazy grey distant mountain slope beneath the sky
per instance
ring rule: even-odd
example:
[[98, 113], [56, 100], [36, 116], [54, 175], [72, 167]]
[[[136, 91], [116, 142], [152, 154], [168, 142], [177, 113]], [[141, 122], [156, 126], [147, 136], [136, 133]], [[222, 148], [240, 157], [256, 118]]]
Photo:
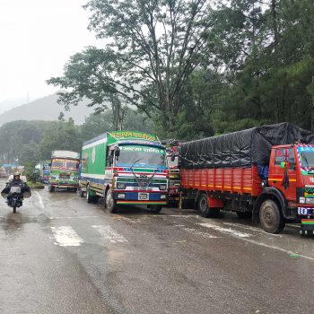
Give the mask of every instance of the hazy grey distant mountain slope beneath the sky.
[[64, 107], [57, 104], [57, 94], [52, 94], [0, 114], [0, 126], [14, 120], [57, 120], [61, 111], [65, 114], [65, 119], [72, 117], [75, 124], [80, 125], [85, 121], [85, 117], [93, 112], [93, 109], [86, 107], [85, 101], [71, 107], [70, 111], [65, 111]]

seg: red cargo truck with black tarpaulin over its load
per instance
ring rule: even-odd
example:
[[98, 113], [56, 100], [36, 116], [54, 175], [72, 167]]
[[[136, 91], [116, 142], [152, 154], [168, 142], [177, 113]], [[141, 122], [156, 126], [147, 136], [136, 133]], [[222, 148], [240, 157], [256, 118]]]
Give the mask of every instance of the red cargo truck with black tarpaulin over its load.
[[220, 210], [252, 215], [270, 233], [301, 222], [314, 233], [314, 133], [289, 123], [184, 143], [182, 204], [204, 217]]

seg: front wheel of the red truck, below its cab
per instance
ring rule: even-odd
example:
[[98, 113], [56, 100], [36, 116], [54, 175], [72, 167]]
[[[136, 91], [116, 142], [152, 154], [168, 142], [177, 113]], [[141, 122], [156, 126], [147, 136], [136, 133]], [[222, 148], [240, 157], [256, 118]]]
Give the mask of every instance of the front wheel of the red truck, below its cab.
[[259, 221], [262, 228], [269, 233], [280, 233], [285, 226], [283, 214], [278, 205], [270, 199], [267, 199], [261, 205], [259, 210]]

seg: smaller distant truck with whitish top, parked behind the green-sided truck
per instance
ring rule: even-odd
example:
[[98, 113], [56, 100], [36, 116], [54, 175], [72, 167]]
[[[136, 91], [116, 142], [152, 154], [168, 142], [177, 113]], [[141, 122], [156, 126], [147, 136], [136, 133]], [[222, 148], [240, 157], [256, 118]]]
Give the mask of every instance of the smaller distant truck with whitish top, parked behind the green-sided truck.
[[80, 153], [53, 151], [50, 161], [48, 191], [54, 192], [56, 188], [62, 188], [76, 192], [79, 165]]

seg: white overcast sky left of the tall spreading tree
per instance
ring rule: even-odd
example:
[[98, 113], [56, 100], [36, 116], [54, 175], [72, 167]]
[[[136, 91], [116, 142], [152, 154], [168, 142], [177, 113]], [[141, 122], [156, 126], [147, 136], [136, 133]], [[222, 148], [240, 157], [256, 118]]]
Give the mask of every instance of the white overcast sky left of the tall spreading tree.
[[[56, 92], [45, 82], [68, 58], [101, 42], [87, 31], [87, 0], [0, 0], [0, 102]], [[0, 109], [1, 111], [1, 109]]]

